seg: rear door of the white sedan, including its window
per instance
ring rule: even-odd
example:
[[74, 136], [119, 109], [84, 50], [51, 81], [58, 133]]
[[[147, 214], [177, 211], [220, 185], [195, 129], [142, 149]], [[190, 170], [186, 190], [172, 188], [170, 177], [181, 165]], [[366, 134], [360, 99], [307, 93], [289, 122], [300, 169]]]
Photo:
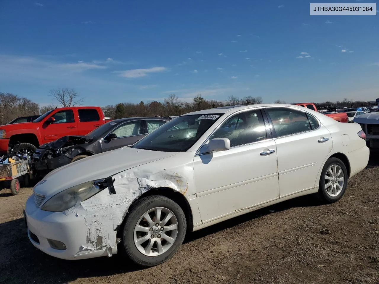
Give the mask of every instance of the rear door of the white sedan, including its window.
[[280, 197], [315, 187], [332, 150], [330, 132], [313, 115], [290, 107], [268, 107], [276, 142]]

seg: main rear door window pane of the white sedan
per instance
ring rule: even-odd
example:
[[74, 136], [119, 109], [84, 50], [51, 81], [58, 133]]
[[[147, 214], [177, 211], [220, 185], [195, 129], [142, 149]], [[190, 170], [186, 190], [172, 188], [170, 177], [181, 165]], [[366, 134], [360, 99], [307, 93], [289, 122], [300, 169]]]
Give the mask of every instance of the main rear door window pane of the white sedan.
[[305, 112], [291, 108], [266, 108], [278, 137], [312, 130]]

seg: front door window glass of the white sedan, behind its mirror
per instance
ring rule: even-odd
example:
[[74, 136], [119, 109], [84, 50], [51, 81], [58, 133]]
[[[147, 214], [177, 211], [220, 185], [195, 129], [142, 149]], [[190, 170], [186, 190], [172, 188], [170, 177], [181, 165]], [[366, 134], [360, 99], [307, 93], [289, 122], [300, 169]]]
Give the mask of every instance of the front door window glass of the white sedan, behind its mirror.
[[265, 140], [266, 127], [262, 113], [254, 109], [232, 116], [210, 137], [213, 138], [228, 138], [231, 147]]

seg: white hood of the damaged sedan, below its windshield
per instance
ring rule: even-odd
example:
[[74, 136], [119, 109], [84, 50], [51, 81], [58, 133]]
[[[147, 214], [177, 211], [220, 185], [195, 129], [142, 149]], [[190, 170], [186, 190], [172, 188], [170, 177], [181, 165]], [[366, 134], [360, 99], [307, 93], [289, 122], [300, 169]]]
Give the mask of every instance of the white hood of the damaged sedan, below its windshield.
[[130, 147], [119, 148], [81, 159], [53, 170], [34, 186], [33, 191], [38, 194], [52, 196], [86, 181], [106, 178], [175, 154], [177, 153], [141, 150]]

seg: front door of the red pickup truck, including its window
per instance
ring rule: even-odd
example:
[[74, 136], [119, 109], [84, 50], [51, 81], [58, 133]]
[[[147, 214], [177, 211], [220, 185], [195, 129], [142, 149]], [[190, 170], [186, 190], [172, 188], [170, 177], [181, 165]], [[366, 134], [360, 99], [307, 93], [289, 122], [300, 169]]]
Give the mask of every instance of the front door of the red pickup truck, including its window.
[[72, 110], [58, 111], [51, 117], [55, 119], [55, 122], [49, 124], [45, 122], [42, 125], [44, 143], [54, 141], [63, 136], [78, 135], [78, 122], [75, 120]]

